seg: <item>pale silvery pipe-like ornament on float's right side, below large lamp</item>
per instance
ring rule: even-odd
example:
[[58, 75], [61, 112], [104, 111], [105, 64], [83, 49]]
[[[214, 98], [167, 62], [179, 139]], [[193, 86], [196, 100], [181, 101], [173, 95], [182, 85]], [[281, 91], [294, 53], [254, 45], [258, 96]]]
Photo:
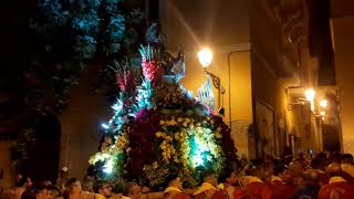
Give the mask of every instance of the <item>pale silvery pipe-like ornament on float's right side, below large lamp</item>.
[[198, 100], [202, 104], [209, 106], [211, 109], [215, 108], [215, 97], [212, 93], [212, 83], [210, 75], [207, 75], [207, 81], [198, 88]]

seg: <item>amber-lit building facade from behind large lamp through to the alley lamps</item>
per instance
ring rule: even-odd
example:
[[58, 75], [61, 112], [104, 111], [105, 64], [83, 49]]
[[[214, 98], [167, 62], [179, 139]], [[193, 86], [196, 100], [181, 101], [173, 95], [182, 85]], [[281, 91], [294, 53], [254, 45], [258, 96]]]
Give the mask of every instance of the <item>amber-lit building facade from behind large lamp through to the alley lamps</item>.
[[[330, 35], [314, 40], [309, 29], [310, 23], [317, 22], [313, 19], [321, 15], [314, 10], [319, 3], [306, 0], [159, 1], [159, 20], [168, 49], [187, 52], [183, 83], [194, 93], [206, 80], [197, 51], [205, 45], [214, 50], [209, 71], [220, 77], [226, 88], [221, 104], [239, 155], [256, 158], [282, 156], [289, 149], [293, 154], [321, 150], [326, 125], [330, 126], [326, 129], [334, 127], [334, 133], [340, 135], [335, 85], [333, 81], [319, 84], [327, 80], [327, 76], [320, 78], [322, 71], [333, 67], [322, 69], [323, 54], [312, 53], [316, 48], [313, 43], [323, 42], [320, 39]], [[325, 53], [331, 55], [330, 51]], [[325, 97], [331, 101], [334, 111], [329, 109], [325, 117], [332, 118], [331, 122], [322, 119], [317, 105], [312, 109], [304, 100], [306, 88], [316, 91], [314, 103]], [[336, 123], [333, 119], [337, 119]]]

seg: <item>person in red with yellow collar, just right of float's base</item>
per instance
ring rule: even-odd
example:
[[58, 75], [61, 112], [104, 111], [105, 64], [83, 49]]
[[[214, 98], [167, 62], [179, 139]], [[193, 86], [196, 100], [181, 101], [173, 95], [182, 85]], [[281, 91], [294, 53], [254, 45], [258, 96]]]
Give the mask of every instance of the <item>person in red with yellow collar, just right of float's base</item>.
[[262, 166], [256, 166], [250, 170], [251, 177], [248, 178], [248, 182], [244, 186], [249, 199], [270, 199], [271, 189], [264, 184], [266, 170]]

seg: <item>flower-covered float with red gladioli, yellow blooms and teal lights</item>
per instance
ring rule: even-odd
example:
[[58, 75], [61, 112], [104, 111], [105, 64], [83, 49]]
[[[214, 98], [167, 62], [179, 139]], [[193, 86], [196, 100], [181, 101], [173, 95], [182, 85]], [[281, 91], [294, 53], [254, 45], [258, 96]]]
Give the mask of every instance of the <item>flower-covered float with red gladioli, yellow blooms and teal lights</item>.
[[183, 53], [175, 59], [150, 45], [139, 51], [139, 86], [128, 66], [117, 70], [119, 97], [103, 124], [101, 149], [90, 158], [98, 178], [135, 179], [159, 190], [169, 174], [194, 187], [200, 169], [233, 169], [237, 156], [228, 126], [179, 84]]

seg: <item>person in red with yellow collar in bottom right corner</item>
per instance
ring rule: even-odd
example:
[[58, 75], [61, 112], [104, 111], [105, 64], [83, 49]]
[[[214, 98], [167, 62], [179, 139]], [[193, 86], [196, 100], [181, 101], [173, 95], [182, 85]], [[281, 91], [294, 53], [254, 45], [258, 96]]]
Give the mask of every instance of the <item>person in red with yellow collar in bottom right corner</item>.
[[333, 163], [329, 165], [326, 172], [330, 177], [329, 185], [322, 186], [319, 199], [352, 199], [354, 198], [354, 186], [341, 177], [341, 165]]

